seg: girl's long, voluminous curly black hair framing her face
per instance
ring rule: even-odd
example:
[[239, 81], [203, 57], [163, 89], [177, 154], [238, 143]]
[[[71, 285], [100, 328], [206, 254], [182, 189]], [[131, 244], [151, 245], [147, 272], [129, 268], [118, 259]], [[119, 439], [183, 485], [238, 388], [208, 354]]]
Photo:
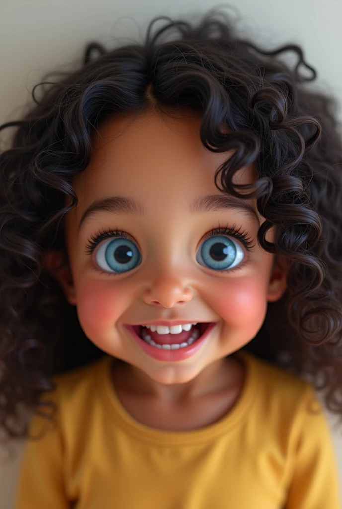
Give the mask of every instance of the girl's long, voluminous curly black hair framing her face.
[[[294, 68], [281, 58], [288, 51], [298, 56]], [[342, 145], [334, 100], [306, 86], [315, 77], [298, 45], [262, 49], [223, 13], [192, 23], [159, 17], [144, 43], [89, 43], [75, 70], [37, 84], [24, 118], [0, 126], [16, 128], [0, 155], [0, 427], [8, 437], [27, 436], [22, 408], [50, 418], [43, 409], [53, 403], [39, 400], [54, 389], [53, 375], [103, 355], [45, 256], [66, 251], [72, 181], [91, 160], [93, 133], [110, 116], [148, 109], [196, 111], [203, 145], [234, 149], [215, 185], [257, 199], [266, 218], [258, 241], [288, 262], [287, 291], [244, 350], [325, 389], [326, 406], [342, 416]], [[251, 163], [259, 179], [240, 194], [232, 178]]]

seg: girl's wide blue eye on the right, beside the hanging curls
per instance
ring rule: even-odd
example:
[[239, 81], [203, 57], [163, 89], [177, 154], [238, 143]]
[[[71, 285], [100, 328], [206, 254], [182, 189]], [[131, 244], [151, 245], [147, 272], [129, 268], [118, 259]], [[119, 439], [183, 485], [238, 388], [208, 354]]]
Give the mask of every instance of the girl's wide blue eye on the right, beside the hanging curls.
[[202, 243], [196, 260], [200, 265], [204, 262], [210, 269], [224, 271], [236, 267], [243, 257], [243, 249], [235, 240], [215, 235]]

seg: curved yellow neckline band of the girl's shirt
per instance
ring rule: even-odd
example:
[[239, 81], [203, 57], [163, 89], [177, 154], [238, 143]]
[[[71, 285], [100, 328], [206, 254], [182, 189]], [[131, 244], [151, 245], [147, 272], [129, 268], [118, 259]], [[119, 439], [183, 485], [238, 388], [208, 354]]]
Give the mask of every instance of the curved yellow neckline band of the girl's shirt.
[[[99, 373], [103, 380], [101, 381], [102, 383], [98, 384], [98, 387], [103, 387], [101, 394], [104, 398], [105, 407], [113, 415], [114, 422], [139, 442], [160, 446], [172, 445], [173, 447], [203, 443], [226, 434], [235, 428], [246, 416], [247, 410], [250, 409], [255, 400], [254, 393], [257, 391], [260, 379], [257, 374], [258, 363], [251, 354], [244, 350], [237, 351], [234, 355], [243, 361], [245, 367], [245, 378], [238, 400], [230, 411], [219, 420], [197, 430], [180, 432], [158, 430], [137, 421], [121, 403], [116, 388], [112, 383], [111, 365], [113, 358], [110, 355], [106, 355], [103, 359], [104, 366], [101, 366]], [[102, 365], [102, 362], [100, 364]]]

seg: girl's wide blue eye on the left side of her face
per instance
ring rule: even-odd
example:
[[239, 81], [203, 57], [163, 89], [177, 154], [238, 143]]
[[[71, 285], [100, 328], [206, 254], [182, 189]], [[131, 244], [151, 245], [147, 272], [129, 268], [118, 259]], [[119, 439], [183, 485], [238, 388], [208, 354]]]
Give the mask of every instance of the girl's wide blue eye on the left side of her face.
[[102, 270], [119, 274], [128, 272], [141, 263], [137, 246], [126, 238], [104, 242], [97, 250], [95, 259]]

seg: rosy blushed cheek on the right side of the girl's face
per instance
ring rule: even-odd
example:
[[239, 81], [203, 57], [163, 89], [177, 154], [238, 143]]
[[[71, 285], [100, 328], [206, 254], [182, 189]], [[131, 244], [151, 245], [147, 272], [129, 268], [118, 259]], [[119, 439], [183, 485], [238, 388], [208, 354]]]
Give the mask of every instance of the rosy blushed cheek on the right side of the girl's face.
[[261, 326], [267, 312], [266, 291], [255, 279], [231, 279], [216, 286], [211, 302], [216, 313], [233, 327]]

